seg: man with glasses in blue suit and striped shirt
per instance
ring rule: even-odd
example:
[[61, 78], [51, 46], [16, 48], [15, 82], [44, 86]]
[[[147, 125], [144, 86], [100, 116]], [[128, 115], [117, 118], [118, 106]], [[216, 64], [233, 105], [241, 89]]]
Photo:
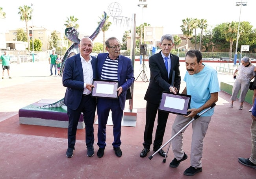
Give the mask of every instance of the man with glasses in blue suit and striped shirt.
[[103, 157], [106, 146], [106, 124], [109, 112], [112, 112], [113, 135], [112, 143], [115, 155], [122, 156], [121, 122], [126, 100], [126, 90], [134, 83], [134, 69], [131, 59], [120, 55], [121, 45], [117, 38], [111, 37], [106, 42], [106, 50], [109, 53], [98, 54], [97, 77], [99, 79], [118, 81], [118, 99], [97, 99], [98, 114], [98, 152], [99, 158]]

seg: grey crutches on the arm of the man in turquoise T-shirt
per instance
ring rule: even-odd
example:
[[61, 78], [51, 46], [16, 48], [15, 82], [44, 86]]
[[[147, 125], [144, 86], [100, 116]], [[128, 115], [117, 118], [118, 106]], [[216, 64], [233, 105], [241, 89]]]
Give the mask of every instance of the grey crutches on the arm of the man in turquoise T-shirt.
[[156, 155], [156, 153], [158, 153], [158, 152], [159, 152], [161, 149], [163, 149], [168, 143], [170, 143], [169, 146], [168, 146], [167, 152], [166, 152], [166, 154], [165, 154], [165, 158], [163, 159], [163, 163], [165, 163], [166, 157], [167, 157], [167, 153], [168, 153], [168, 151], [169, 151], [169, 148], [170, 148], [170, 146], [171, 146], [171, 141], [173, 140], [173, 138], [176, 137], [181, 131], [183, 131], [184, 129], [186, 129], [186, 127], [189, 126], [189, 124], [190, 124], [191, 122], [193, 122], [194, 120], [196, 120], [197, 118], [199, 118], [202, 114], [204, 114], [206, 111], [208, 111], [208, 110], [210, 110], [211, 108], [213, 108], [215, 105], [216, 105], [216, 104], [213, 103], [210, 107], [206, 108], [206, 109], [205, 109], [204, 111], [202, 111], [201, 113], [195, 115], [191, 121], [189, 121], [184, 127], [182, 127], [182, 129], [180, 129], [180, 131], [178, 131], [172, 138], [170, 138], [165, 144], [163, 144], [155, 153], [153, 153], [153, 155], [150, 155], [150, 156], [148, 157], [148, 159], [151, 160], [151, 159], [153, 158], [153, 156]]

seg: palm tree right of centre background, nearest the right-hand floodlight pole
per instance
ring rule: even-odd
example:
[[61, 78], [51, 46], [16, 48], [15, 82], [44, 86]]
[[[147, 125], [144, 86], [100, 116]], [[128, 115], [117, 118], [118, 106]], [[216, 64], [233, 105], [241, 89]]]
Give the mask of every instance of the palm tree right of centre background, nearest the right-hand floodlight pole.
[[231, 23], [228, 23], [225, 28], [226, 41], [230, 42], [229, 60], [231, 60], [231, 56], [232, 56], [233, 42], [235, 41], [235, 39], [237, 37], [237, 28], [238, 28], [238, 23], [234, 22], [234, 21], [232, 21]]

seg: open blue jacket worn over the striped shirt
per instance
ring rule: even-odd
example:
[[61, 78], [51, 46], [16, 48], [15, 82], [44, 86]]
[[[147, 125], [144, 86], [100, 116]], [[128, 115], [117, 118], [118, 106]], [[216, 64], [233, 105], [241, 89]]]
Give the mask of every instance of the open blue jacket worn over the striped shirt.
[[[102, 67], [107, 57], [108, 57], [108, 53], [101, 53], [101, 54], [98, 54], [97, 56], [97, 59], [98, 59], [97, 78], [98, 79], [100, 79]], [[131, 59], [125, 56], [119, 55], [117, 76], [118, 76], [119, 87], [120, 86], [122, 87], [122, 93], [119, 95], [118, 100], [119, 100], [121, 109], [124, 110], [125, 100], [126, 100], [126, 90], [128, 90], [132, 85], [132, 83], [134, 83], [134, 69], [132, 67]]]

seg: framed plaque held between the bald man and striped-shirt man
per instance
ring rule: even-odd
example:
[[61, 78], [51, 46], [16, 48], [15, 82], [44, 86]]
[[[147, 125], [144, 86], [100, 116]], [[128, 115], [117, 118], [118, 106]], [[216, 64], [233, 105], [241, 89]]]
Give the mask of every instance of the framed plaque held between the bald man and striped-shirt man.
[[93, 85], [95, 87], [91, 90], [92, 97], [117, 99], [118, 81], [93, 79]]

